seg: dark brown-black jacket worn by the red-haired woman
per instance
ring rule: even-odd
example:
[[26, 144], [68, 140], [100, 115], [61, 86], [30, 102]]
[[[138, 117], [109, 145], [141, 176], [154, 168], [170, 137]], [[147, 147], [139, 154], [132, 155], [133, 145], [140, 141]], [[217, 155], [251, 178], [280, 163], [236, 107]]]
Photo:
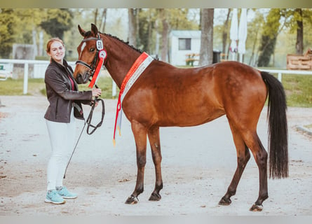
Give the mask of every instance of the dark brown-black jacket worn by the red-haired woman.
[[[44, 82], [46, 83], [46, 95], [50, 105], [44, 118], [47, 120], [69, 123], [70, 114], [72, 113], [73, 103], [78, 104], [81, 111], [74, 107], [74, 116], [83, 119], [81, 103], [89, 104], [92, 100], [92, 91], [78, 91], [78, 85], [74, 80], [73, 69], [63, 60], [63, 65], [51, 59]], [[74, 91], [69, 77], [74, 80]]]

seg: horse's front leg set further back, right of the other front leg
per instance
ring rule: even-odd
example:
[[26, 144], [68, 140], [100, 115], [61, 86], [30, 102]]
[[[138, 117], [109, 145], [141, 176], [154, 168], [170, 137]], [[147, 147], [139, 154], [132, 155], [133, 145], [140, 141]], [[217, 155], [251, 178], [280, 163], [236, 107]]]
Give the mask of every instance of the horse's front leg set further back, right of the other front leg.
[[151, 155], [153, 158], [155, 172], [156, 172], [156, 183], [150, 201], [161, 200], [159, 191], [163, 189], [163, 179], [161, 177], [161, 141], [159, 139], [159, 127], [151, 127], [147, 132], [149, 137], [149, 143], [151, 144]]

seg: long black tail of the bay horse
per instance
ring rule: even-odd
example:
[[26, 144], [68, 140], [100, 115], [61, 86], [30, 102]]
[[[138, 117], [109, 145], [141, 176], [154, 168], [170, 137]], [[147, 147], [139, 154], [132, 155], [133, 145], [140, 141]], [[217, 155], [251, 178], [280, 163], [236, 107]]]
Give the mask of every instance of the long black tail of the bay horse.
[[286, 97], [282, 83], [270, 73], [261, 71], [268, 88], [269, 176], [288, 176], [288, 131]]

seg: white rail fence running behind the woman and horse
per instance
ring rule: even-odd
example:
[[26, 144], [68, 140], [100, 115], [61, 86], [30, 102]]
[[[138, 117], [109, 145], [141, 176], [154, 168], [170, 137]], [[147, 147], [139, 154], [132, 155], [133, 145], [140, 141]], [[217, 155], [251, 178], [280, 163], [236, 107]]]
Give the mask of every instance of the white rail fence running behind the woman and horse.
[[[3, 64], [6, 68], [13, 69], [13, 64], [24, 64], [24, 87], [23, 94], [27, 94], [28, 88], [28, 65], [34, 64], [34, 77], [33, 78], [44, 78], [44, 73], [49, 61], [39, 61], [39, 60], [21, 60], [21, 59], [0, 59], [0, 65]], [[68, 62], [69, 65], [74, 69], [75, 62]], [[261, 71], [267, 71], [269, 73], [278, 73], [278, 80], [282, 81], [283, 74], [298, 74], [298, 75], [312, 75], [312, 71], [301, 71], [301, 70], [278, 70], [278, 69], [259, 69]], [[12, 73], [12, 71], [7, 71], [7, 73]], [[7, 75], [6, 75], [7, 76]], [[116, 83], [113, 81], [112, 96], [116, 96]]]

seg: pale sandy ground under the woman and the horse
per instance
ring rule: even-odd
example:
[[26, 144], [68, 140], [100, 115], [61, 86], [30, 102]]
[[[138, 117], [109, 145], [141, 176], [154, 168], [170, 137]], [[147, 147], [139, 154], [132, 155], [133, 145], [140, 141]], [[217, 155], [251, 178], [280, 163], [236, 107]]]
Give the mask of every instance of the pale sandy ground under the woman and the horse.
[[[50, 144], [43, 115], [45, 97], [0, 96], [0, 216], [16, 215], [312, 215], [312, 138], [297, 125], [312, 123], [312, 109], [288, 109], [290, 177], [269, 179], [269, 199], [261, 213], [248, 211], [258, 195], [255, 160], [248, 162], [231, 206], [218, 205], [236, 169], [236, 151], [225, 117], [198, 127], [161, 129], [162, 199], [149, 202], [154, 166], [148, 148], [144, 193], [136, 205], [124, 204], [136, 181], [135, 143], [123, 116], [121, 137], [112, 144], [116, 100], [105, 100], [104, 126], [84, 132], [65, 183], [79, 194], [60, 206], [43, 202]], [[85, 109], [88, 115], [88, 108]], [[100, 112], [95, 111], [95, 122]], [[77, 122], [77, 136], [83, 122]], [[259, 137], [266, 148], [266, 109]]]

